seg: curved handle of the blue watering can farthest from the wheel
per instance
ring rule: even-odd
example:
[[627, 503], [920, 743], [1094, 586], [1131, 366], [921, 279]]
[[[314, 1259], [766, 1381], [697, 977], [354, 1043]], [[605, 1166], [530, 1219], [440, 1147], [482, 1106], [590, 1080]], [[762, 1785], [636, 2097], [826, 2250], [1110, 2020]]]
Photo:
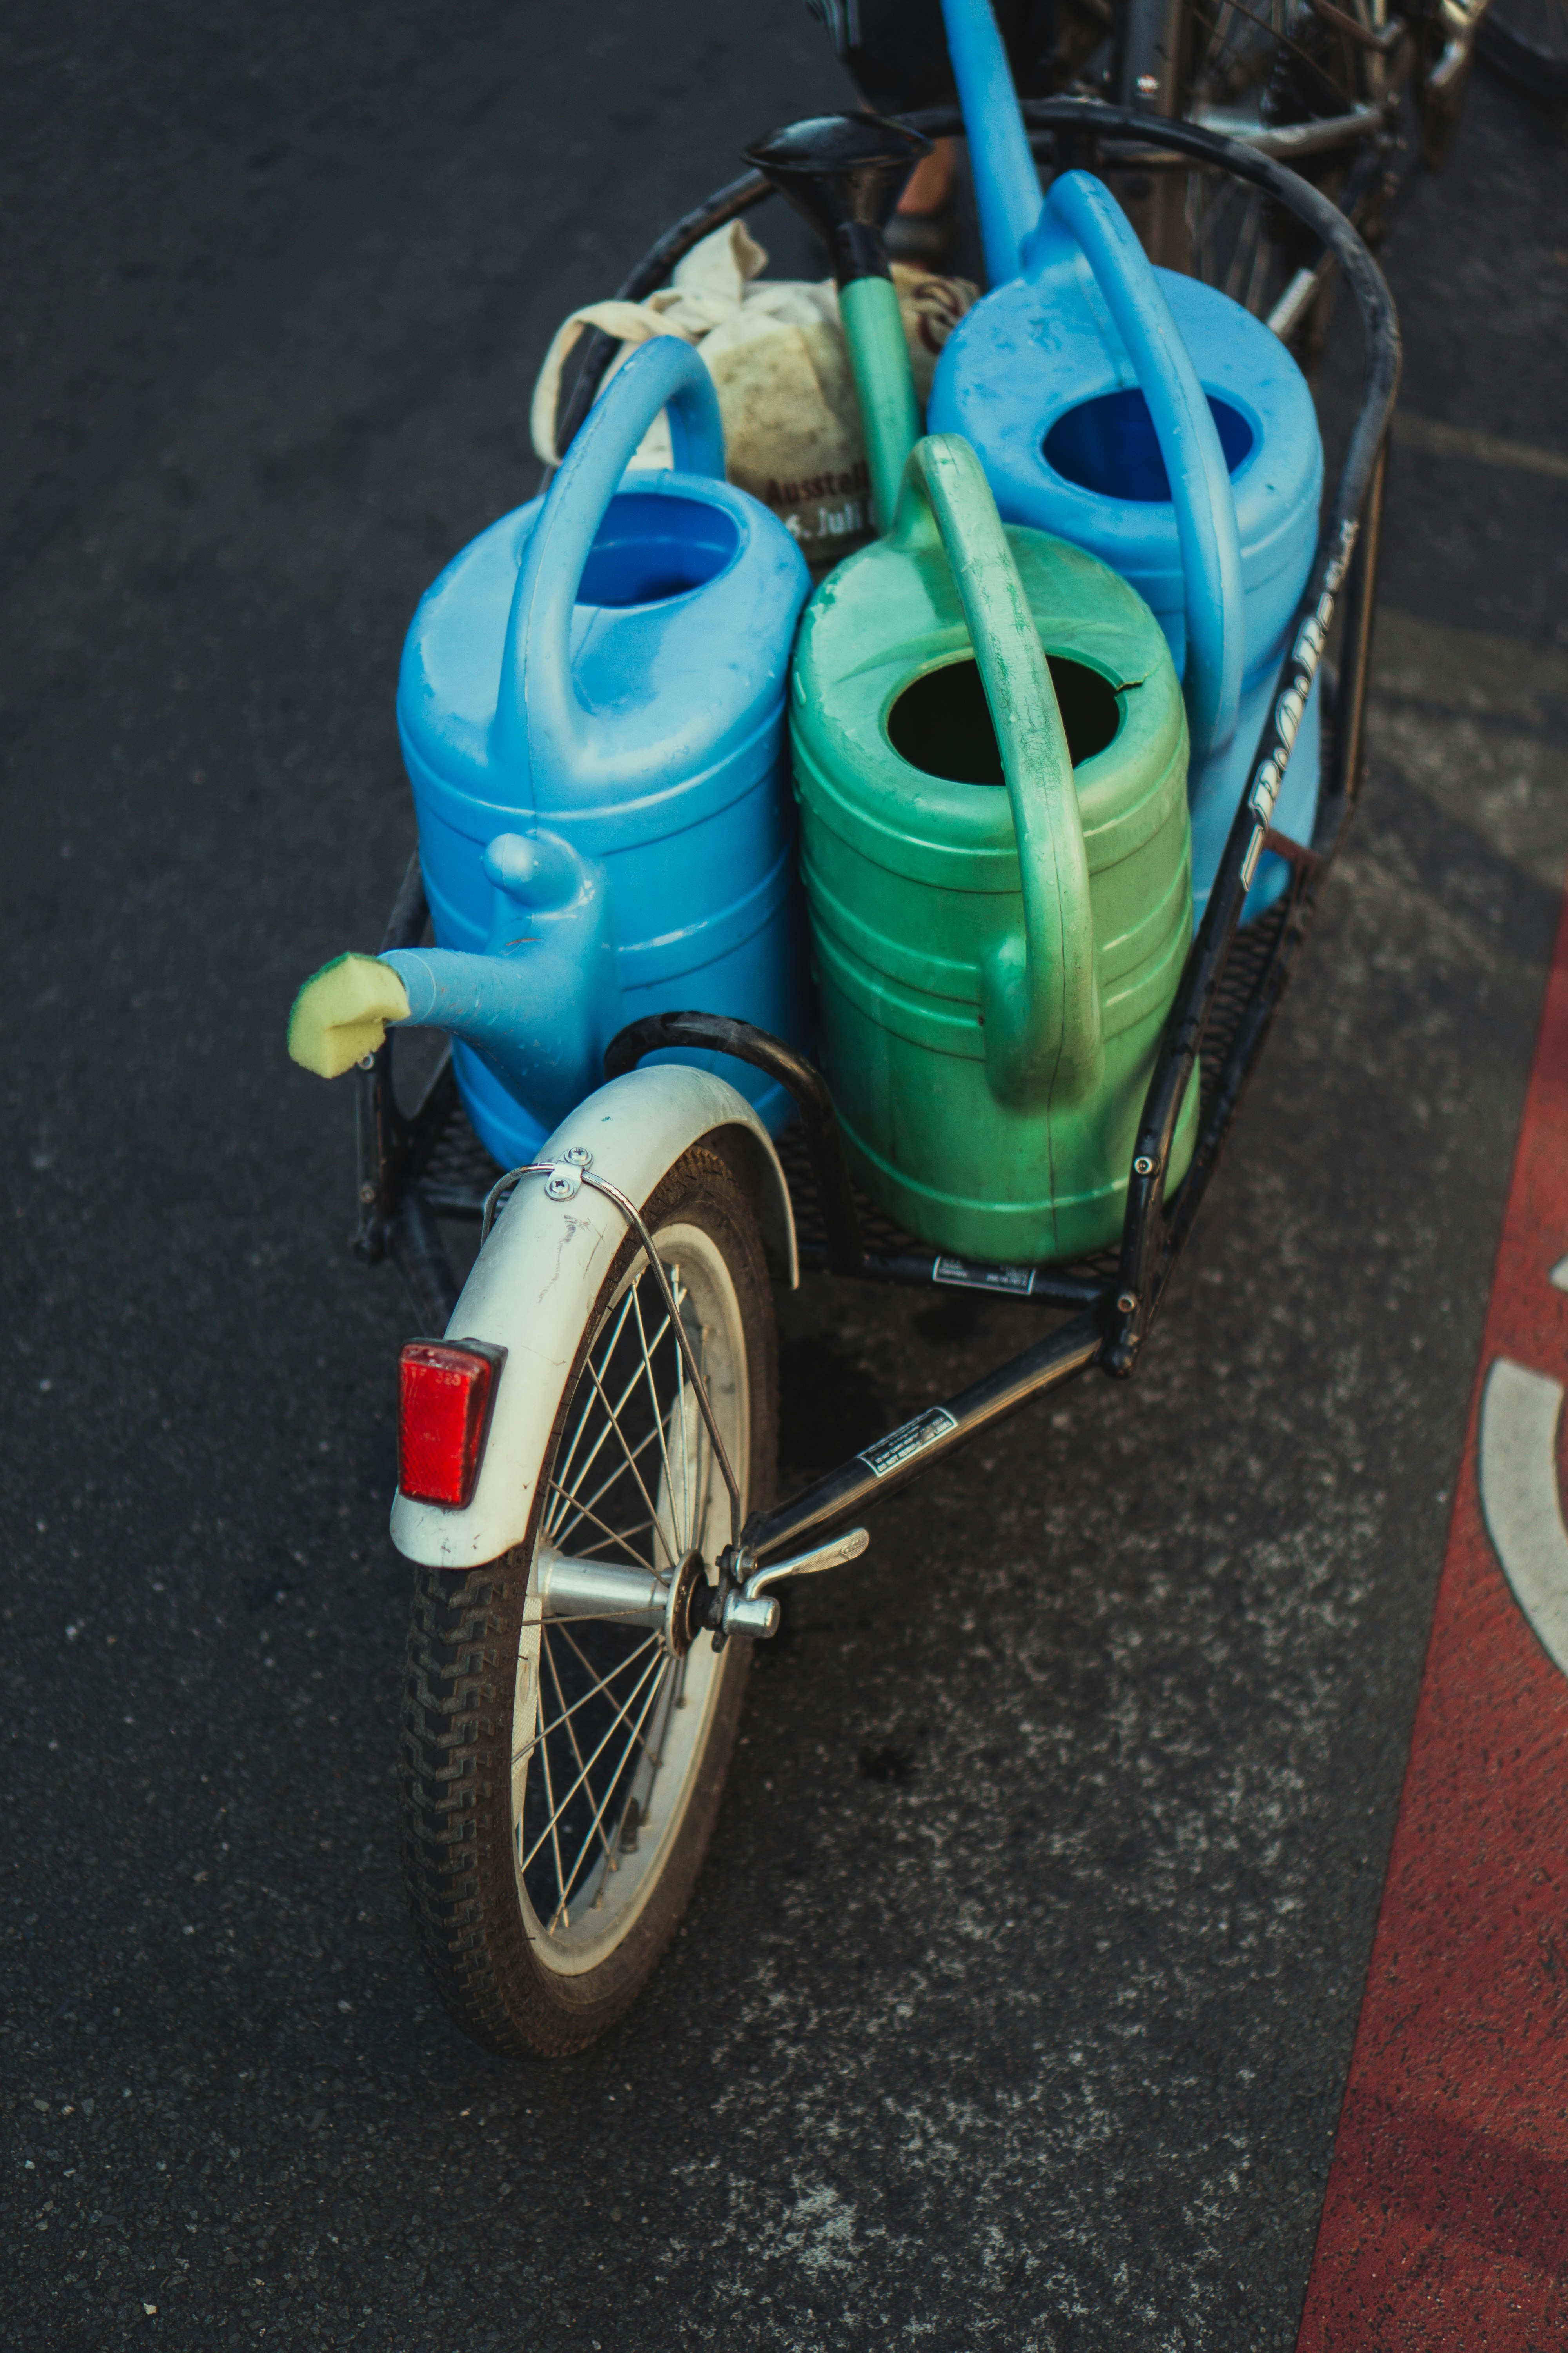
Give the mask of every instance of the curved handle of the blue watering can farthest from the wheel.
[[[1213, 409], [1121, 205], [1091, 172], [1063, 172], [1046, 205], [1077, 238], [1117, 322], [1154, 419], [1171, 480], [1187, 609], [1187, 729], [1192, 774], [1237, 732], [1244, 607], [1237, 494]], [[1027, 266], [1027, 264], [1025, 264]]]

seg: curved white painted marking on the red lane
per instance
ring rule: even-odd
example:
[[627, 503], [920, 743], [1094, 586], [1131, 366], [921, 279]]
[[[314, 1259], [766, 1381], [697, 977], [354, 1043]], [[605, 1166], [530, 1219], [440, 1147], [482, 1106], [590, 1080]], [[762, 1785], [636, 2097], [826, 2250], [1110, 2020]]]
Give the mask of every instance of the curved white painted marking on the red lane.
[[1505, 1355], [1481, 1393], [1481, 1513], [1514, 1600], [1568, 1675], [1568, 1527], [1556, 1487], [1563, 1384]]

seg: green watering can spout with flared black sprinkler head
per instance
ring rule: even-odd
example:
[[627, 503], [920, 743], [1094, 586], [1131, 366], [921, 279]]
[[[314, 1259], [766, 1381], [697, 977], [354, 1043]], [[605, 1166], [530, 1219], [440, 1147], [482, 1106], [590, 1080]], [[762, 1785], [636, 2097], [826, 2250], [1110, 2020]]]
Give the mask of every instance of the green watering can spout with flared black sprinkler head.
[[813, 115], [745, 148], [745, 162], [832, 254], [879, 532], [893, 522], [903, 468], [919, 440], [910, 348], [882, 231], [910, 172], [929, 153], [929, 139], [882, 115]]

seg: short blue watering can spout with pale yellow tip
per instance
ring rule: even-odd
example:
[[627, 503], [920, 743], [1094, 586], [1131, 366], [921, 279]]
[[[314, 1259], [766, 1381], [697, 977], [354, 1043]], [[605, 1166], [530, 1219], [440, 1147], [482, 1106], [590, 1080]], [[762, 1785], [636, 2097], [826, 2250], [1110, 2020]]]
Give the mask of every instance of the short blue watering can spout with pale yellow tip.
[[597, 1087], [623, 1024], [604, 866], [557, 833], [498, 833], [484, 873], [494, 913], [482, 955], [336, 958], [294, 1000], [294, 1061], [339, 1078], [376, 1052], [388, 1024], [442, 1028], [475, 1047], [545, 1129], [564, 1120]]

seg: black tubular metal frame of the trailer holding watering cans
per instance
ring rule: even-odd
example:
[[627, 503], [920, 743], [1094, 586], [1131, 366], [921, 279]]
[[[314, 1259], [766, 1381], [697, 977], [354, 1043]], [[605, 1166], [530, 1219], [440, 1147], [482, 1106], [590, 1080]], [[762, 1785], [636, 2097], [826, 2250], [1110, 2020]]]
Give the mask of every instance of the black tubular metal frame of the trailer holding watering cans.
[[[929, 108], [905, 120], [929, 134], [961, 132], [957, 108]], [[752, 1515], [743, 1539], [750, 1558], [820, 1534], [832, 1520], [886, 1497], [966, 1438], [1091, 1365], [1114, 1379], [1131, 1377], [1173, 1266], [1192, 1235], [1361, 793], [1387, 433], [1399, 391], [1399, 322], [1382, 271], [1326, 195], [1279, 160], [1239, 141], [1187, 122], [1161, 120], [1154, 129], [1131, 108], [1088, 99], [1032, 101], [1025, 106], [1025, 120], [1041, 144], [1051, 144], [1060, 167], [1093, 169], [1100, 160], [1138, 162], [1140, 155], [1175, 151], [1265, 188], [1293, 212], [1321, 240], [1324, 254], [1342, 271], [1356, 301], [1363, 344], [1361, 405], [1319, 532], [1307, 588], [1295, 609], [1248, 788], [1237, 807], [1208, 908], [1166, 1019], [1138, 1127], [1119, 1249], [1077, 1266], [1025, 1268], [976, 1266], [936, 1254], [891, 1226], [851, 1184], [832, 1096], [804, 1054], [743, 1021], [703, 1012], [656, 1014], [621, 1031], [611, 1042], [604, 1056], [607, 1078], [635, 1068], [649, 1052], [689, 1047], [736, 1054], [790, 1089], [799, 1108], [799, 1129], [785, 1136], [783, 1160], [797, 1209], [802, 1264], [872, 1282], [964, 1285], [1067, 1311], [1065, 1322], [997, 1372], [926, 1407], [905, 1431], [889, 1433], [889, 1440], [867, 1447], [773, 1511]], [[759, 172], [719, 188], [649, 249], [625, 278], [621, 296], [635, 301], [654, 292], [701, 238], [750, 212], [769, 193]], [[614, 351], [616, 344], [599, 336], [597, 346], [590, 344], [583, 353], [562, 416], [562, 442], [571, 440], [588, 414]], [[1338, 664], [1331, 666], [1326, 647], [1335, 626]], [[1295, 842], [1274, 828], [1272, 816], [1319, 671], [1326, 673], [1324, 685], [1331, 689], [1324, 784], [1312, 840]], [[1241, 927], [1244, 901], [1265, 852], [1288, 861], [1288, 880], [1276, 904]], [[425, 922], [416, 854], [397, 894], [383, 953], [418, 946]], [[1182, 1181], [1168, 1188], [1178, 1118], [1199, 1075], [1199, 1139]], [[393, 1087], [388, 1035], [360, 1085], [357, 1148], [355, 1249], [369, 1261], [390, 1254], [428, 1325], [442, 1329], [458, 1285], [442, 1247], [440, 1219], [477, 1219], [496, 1174], [461, 1115], [449, 1056], [442, 1059], [416, 1111], [404, 1115]]]

